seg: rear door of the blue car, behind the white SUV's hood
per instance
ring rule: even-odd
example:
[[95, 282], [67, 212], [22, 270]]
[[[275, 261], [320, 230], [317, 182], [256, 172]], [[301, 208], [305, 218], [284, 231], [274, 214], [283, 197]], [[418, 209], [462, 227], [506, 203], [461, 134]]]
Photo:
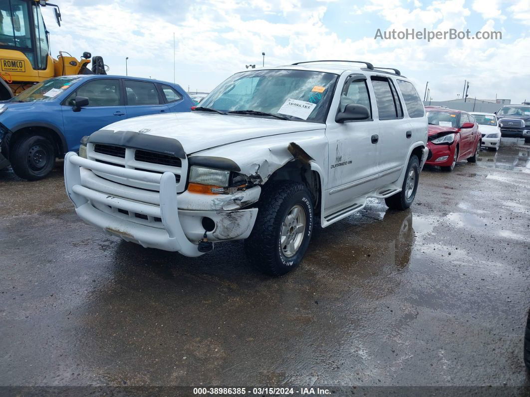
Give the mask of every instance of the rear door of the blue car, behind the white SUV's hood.
[[169, 111], [155, 83], [123, 79], [127, 118]]

